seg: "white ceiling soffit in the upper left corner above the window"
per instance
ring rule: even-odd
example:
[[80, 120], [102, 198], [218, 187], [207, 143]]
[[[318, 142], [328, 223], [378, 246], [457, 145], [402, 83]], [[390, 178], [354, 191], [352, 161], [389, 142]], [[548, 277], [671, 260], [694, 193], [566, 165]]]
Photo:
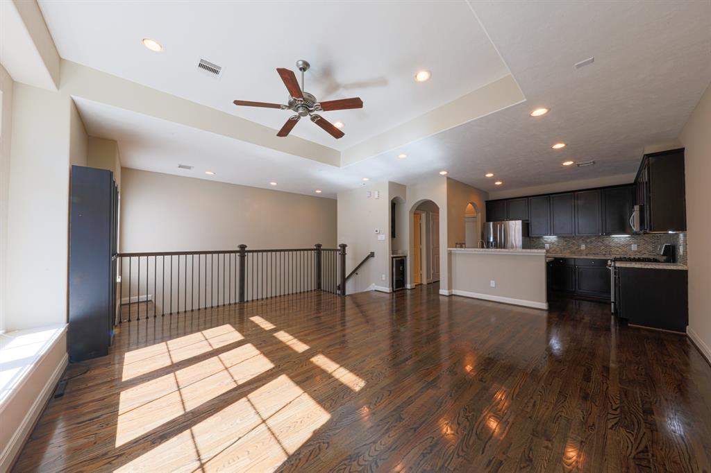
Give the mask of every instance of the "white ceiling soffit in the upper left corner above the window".
[[59, 54], [34, 1], [0, 1], [0, 64], [15, 82], [57, 90]]

